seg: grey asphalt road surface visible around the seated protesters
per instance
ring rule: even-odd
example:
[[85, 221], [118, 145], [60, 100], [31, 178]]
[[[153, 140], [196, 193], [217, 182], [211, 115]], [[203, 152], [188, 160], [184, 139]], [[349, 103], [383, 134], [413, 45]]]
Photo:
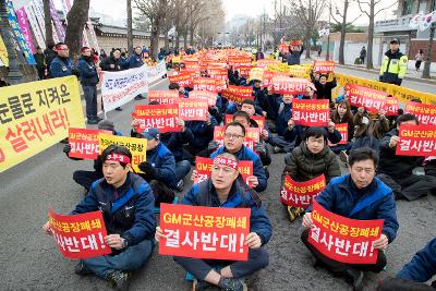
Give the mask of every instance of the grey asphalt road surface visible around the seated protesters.
[[[338, 70], [342, 71], [342, 70]], [[365, 76], [361, 72], [353, 72]], [[431, 89], [434, 86], [404, 82], [404, 85]], [[165, 89], [167, 81], [154, 86]], [[117, 130], [130, 131], [130, 112], [138, 101], [123, 106], [122, 112], [109, 112]], [[108, 290], [105, 281], [74, 274], [75, 260], [64, 259], [52, 238], [41, 231], [49, 208], [69, 213], [83, 197], [83, 189], [74, 183], [77, 169], [92, 169], [92, 161], [73, 161], [57, 144], [39, 155], [0, 174], [0, 290]], [[250, 290], [351, 290], [341, 278], [324, 269], [315, 270], [311, 255], [300, 241], [301, 219], [290, 223], [279, 202], [283, 154], [272, 156], [268, 189], [262, 194], [264, 207], [274, 226], [266, 246], [269, 266], [249, 278]], [[187, 185], [185, 185], [186, 191]], [[399, 202], [400, 230], [387, 251], [387, 270], [365, 276], [365, 289], [393, 276], [427, 241], [436, 237], [434, 217], [436, 198], [424, 197], [413, 203]], [[131, 290], [189, 290], [184, 271], [171, 257], [156, 251], [149, 263], [133, 276]]]

